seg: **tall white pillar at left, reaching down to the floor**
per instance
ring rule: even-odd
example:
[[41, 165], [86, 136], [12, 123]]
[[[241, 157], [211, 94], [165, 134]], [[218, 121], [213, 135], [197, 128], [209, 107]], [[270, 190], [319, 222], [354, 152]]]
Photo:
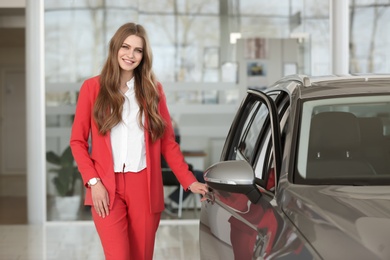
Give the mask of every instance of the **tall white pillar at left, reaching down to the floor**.
[[44, 3], [26, 1], [27, 218], [46, 222]]

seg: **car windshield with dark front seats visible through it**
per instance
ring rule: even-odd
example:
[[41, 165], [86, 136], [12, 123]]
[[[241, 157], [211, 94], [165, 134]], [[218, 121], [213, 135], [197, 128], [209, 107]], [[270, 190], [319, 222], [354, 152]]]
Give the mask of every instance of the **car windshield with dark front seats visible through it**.
[[297, 158], [305, 183], [390, 182], [390, 96], [303, 103]]

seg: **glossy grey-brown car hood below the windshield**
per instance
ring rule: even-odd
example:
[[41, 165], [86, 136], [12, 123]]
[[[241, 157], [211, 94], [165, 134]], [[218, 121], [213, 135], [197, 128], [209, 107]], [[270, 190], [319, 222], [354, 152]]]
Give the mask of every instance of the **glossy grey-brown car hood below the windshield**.
[[390, 259], [387, 186], [290, 185], [283, 198], [284, 213], [324, 259]]

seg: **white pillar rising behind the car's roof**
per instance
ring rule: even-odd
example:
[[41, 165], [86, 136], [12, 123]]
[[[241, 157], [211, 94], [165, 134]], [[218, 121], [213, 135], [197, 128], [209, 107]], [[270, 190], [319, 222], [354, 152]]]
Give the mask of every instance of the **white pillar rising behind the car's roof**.
[[330, 1], [331, 72], [349, 73], [349, 1]]

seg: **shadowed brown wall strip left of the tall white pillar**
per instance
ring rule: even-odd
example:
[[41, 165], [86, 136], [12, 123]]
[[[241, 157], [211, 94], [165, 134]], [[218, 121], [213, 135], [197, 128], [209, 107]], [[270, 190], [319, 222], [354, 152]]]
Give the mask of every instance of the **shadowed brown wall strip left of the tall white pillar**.
[[[5, 82], [12, 78], [12, 75], [15, 76], [15, 72], [19, 73], [17, 77], [13, 78], [12, 82], [25, 82], [25, 67], [26, 67], [26, 50], [25, 50], [25, 0], [2, 0], [0, 1], [0, 117], [1, 123], [4, 120], [4, 106], [6, 102], [5, 97]], [[21, 73], [21, 74], [20, 74]], [[23, 78], [19, 78], [19, 76]], [[13, 86], [11, 86], [13, 87]], [[15, 86], [16, 87], [16, 86]], [[12, 97], [17, 97], [16, 101], [12, 99], [13, 103], [16, 103], [15, 106], [19, 104], [24, 104], [25, 98], [24, 94], [26, 86], [24, 83], [18, 84], [18, 91], [11, 88]], [[16, 91], [16, 92], [15, 92]], [[10, 94], [8, 92], [8, 94]], [[20, 97], [20, 100], [18, 100]], [[8, 100], [8, 105], [10, 101]], [[21, 108], [21, 107], [19, 107]], [[18, 110], [19, 116], [20, 113], [25, 111], [24, 108]], [[8, 111], [7, 115], [9, 115]], [[12, 113], [12, 111], [11, 111]], [[25, 116], [24, 116], [25, 117]], [[12, 120], [12, 118], [9, 118]], [[23, 120], [22, 120], [23, 121]], [[20, 120], [15, 121], [17, 125], [20, 123]], [[9, 125], [7, 125], [9, 126]], [[25, 128], [25, 125], [21, 128]], [[4, 158], [4, 150], [6, 146], [2, 139], [7, 138], [3, 135], [3, 132], [6, 131], [4, 127], [0, 125], [0, 163], [2, 164], [0, 169], [3, 169], [5, 164], [3, 164], [1, 158]], [[3, 132], [2, 132], [3, 131]], [[25, 129], [19, 129], [18, 133], [22, 133]], [[23, 133], [22, 133], [23, 134]], [[13, 141], [11, 141], [12, 143]], [[16, 146], [13, 148], [12, 154], [22, 154], [24, 160], [26, 160], [25, 140], [14, 140]], [[23, 142], [23, 143], [22, 143]], [[21, 152], [19, 153], [19, 149]], [[10, 154], [8, 154], [10, 156]], [[16, 162], [18, 170], [13, 172], [15, 174], [7, 174], [7, 172], [0, 171], [0, 224], [25, 224], [27, 223], [27, 180], [26, 180], [26, 162], [22, 162], [20, 165]], [[15, 164], [12, 164], [15, 166]], [[7, 168], [8, 169], [8, 168]], [[20, 170], [20, 171], [19, 171]], [[6, 175], [7, 174], [7, 175]]]

